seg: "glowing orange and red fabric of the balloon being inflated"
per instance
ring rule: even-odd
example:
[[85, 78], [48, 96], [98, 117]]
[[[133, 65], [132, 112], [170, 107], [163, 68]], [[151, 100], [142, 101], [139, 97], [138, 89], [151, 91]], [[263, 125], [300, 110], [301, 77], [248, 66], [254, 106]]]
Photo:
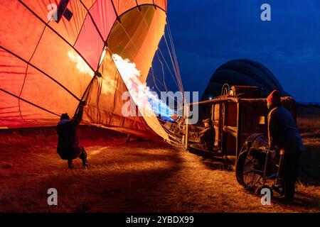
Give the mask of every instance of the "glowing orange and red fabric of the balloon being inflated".
[[156, 116], [123, 116], [128, 89], [112, 60], [146, 81], [166, 0], [0, 0], [0, 21], [0, 129], [55, 126], [86, 99], [83, 123], [168, 139]]

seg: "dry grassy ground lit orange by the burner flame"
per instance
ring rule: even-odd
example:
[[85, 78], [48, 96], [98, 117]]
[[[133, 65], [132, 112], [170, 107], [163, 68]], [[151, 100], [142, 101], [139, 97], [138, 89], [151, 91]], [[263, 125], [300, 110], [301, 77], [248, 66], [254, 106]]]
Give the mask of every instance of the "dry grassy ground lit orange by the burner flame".
[[[242, 189], [228, 165], [164, 143], [124, 143], [125, 135], [82, 127], [90, 168], [75, 160], [68, 170], [54, 129], [1, 131], [0, 212], [319, 212], [320, 145], [312, 127], [302, 127], [307, 151], [297, 198], [271, 206]], [[48, 206], [49, 188], [58, 190], [58, 206]]]

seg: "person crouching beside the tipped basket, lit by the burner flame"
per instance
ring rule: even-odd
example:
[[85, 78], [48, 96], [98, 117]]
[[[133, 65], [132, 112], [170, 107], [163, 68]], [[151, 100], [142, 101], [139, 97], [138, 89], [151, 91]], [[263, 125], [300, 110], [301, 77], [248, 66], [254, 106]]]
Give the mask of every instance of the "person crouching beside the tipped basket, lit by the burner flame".
[[205, 150], [213, 150], [215, 141], [215, 128], [213, 128], [213, 121], [208, 118], [203, 120], [205, 128], [199, 133], [200, 146]]

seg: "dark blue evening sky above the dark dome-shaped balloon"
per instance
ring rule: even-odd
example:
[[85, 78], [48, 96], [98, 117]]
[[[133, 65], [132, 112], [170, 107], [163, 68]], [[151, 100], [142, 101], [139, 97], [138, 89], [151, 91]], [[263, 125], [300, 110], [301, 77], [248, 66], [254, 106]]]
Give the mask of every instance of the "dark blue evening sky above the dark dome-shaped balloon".
[[[272, 21], [260, 20], [264, 3]], [[297, 101], [320, 101], [319, 0], [169, 0], [168, 18], [186, 91], [202, 94], [215, 69], [247, 58]]]

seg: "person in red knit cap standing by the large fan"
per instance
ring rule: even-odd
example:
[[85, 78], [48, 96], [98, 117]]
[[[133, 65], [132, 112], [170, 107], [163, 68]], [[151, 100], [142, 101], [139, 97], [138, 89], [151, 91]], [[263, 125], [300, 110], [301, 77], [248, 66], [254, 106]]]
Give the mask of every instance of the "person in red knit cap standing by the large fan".
[[278, 187], [282, 187], [284, 199], [292, 201], [295, 183], [299, 175], [299, 157], [304, 150], [302, 138], [292, 114], [281, 105], [280, 92], [274, 90], [267, 97], [268, 137], [272, 150], [279, 150], [280, 162]]

